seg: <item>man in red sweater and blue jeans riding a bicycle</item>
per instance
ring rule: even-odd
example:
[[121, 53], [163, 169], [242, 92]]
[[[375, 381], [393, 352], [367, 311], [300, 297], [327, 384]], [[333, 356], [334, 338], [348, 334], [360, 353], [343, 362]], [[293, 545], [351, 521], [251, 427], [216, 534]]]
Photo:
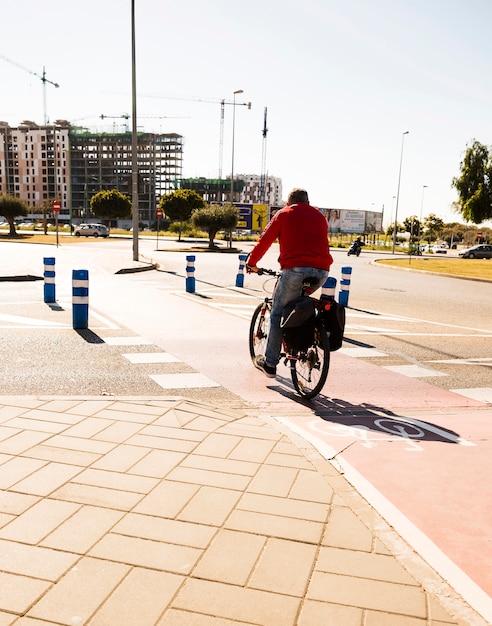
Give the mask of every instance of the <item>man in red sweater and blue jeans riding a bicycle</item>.
[[268, 378], [275, 378], [282, 348], [280, 321], [285, 305], [297, 298], [305, 278], [317, 279], [314, 290], [328, 277], [333, 263], [328, 243], [328, 224], [321, 211], [309, 204], [305, 189], [293, 189], [287, 206], [270, 220], [251, 251], [246, 271], [257, 272], [258, 261], [278, 239], [279, 263], [282, 269], [273, 294], [270, 332], [264, 355], [258, 355], [255, 366]]

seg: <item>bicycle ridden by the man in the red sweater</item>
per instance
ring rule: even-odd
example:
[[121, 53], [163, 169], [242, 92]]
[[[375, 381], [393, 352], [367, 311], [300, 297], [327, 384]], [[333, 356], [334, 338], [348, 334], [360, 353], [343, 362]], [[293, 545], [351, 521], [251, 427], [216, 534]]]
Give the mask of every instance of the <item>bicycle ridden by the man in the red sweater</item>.
[[[269, 274], [277, 279], [280, 276], [280, 272], [264, 268], [258, 268], [258, 274]], [[302, 285], [301, 296], [311, 296], [316, 282], [314, 278], [306, 278]], [[293, 347], [289, 345], [285, 333], [282, 333], [282, 351], [280, 353], [280, 359], [283, 359], [285, 365], [290, 367], [295, 390], [303, 398], [314, 398], [322, 390], [330, 369], [330, 341], [325, 324], [327, 324], [328, 319], [327, 312], [333, 302], [324, 298], [311, 297], [311, 300], [314, 304], [314, 330], [308, 345], [300, 348]], [[253, 363], [255, 363], [258, 355], [265, 354], [271, 307], [272, 297], [267, 296], [257, 306], [251, 318], [249, 351]]]

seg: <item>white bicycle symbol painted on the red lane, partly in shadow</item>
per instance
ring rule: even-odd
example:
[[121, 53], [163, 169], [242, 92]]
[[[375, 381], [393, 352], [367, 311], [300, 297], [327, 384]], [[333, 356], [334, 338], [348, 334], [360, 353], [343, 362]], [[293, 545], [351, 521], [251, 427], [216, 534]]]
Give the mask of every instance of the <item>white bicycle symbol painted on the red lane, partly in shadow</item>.
[[[369, 418], [369, 416], [368, 416]], [[313, 421], [310, 426], [313, 430], [320, 434], [343, 437], [349, 439], [360, 440], [361, 445], [365, 448], [375, 448], [378, 442], [382, 441], [404, 441], [406, 446], [404, 450], [409, 452], [423, 452], [423, 446], [419, 445], [416, 440], [425, 440], [432, 433], [439, 438], [450, 443], [462, 446], [475, 446], [471, 441], [461, 439], [458, 435], [428, 424], [414, 418], [398, 418], [378, 417], [372, 419], [371, 426], [365, 424], [337, 424], [326, 421]], [[390, 437], [385, 437], [385, 433]]]

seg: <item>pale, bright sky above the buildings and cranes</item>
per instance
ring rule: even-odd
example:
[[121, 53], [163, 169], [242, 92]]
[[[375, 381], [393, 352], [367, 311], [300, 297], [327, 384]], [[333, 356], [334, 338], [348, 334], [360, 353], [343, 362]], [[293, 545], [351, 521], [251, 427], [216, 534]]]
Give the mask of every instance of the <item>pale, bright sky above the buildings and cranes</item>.
[[[2, 23], [0, 120], [42, 124], [44, 92], [50, 123], [131, 129], [131, 0], [16, 0]], [[490, 24], [491, 0], [135, 0], [137, 127], [183, 135], [186, 178], [265, 163], [284, 199], [463, 221], [452, 179], [492, 145]]]

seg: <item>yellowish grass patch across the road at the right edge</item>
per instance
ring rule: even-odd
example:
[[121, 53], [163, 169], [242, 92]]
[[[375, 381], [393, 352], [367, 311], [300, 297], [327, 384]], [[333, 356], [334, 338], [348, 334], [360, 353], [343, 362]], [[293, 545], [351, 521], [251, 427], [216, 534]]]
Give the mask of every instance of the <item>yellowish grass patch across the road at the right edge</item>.
[[436, 272], [448, 276], [481, 278], [492, 281], [491, 259], [416, 259], [412, 257], [411, 259], [378, 259], [376, 263], [403, 269]]

